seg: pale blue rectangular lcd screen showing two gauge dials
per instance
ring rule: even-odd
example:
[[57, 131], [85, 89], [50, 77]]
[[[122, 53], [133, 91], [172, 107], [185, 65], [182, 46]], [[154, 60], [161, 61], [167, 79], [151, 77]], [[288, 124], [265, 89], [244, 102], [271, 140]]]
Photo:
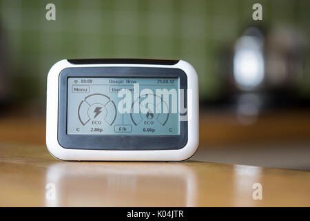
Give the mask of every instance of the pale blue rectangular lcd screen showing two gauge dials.
[[68, 77], [68, 135], [178, 135], [179, 79]]

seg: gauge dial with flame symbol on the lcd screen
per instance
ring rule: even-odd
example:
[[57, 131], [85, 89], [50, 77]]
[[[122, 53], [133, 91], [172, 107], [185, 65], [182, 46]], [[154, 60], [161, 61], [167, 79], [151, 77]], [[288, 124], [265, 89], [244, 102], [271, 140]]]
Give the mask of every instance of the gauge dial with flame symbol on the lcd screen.
[[[150, 99], [147, 99], [148, 97]], [[152, 100], [153, 102], [147, 102], [148, 100]], [[138, 113], [134, 112], [135, 106], [138, 106]], [[150, 108], [151, 106], [153, 108]], [[154, 120], [154, 122], [164, 126], [169, 118], [169, 106], [157, 95], [141, 95], [132, 103], [130, 117], [132, 117], [132, 122], [134, 122], [135, 125], [140, 124], [143, 120]]]

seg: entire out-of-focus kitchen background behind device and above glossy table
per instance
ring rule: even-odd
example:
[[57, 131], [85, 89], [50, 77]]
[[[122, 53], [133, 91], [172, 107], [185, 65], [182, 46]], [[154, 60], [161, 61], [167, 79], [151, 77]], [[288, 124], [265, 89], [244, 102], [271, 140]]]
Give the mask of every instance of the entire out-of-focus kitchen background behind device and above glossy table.
[[0, 142], [45, 148], [56, 61], [183, 59], [199, 77], [192, 160], [309, 170], [309, 18], [308, 0], [0, 0]]

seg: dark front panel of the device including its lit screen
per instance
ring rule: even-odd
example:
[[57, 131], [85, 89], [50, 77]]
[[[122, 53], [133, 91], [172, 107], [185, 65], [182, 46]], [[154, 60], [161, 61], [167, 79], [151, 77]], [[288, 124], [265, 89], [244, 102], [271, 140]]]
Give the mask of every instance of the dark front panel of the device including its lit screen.
[[[176, 68], [65, 68], [59, 144], [101, 150], [179, 149], [187, 143], [187, 77]], [[180, 96], [180, 91], [184, 96]]]

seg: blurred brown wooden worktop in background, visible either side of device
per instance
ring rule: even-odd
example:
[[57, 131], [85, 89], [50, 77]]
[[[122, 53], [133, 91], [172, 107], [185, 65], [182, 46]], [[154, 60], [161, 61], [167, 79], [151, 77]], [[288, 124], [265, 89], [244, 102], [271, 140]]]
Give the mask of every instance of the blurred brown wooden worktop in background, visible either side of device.
[[[15, 108], [19, 109], [19, 107]], [[34, 110], [32, 110], [33, 112]], [[254, 124], [242, 125], [236, 115], [228, 111], [200, 113], [200, 144], [213, 146], [285, 141], [309, 141], [309, 109], [299, 111], [270, 111], [258, 117]], [[20, 115], [12, 110], [0, 117], [0, 142], [45, 144], [45, 117], [36, 114]], [[28, 113], [29, 110], [25, 110]], [[40, 116], [40, 115], [39, 115]]]

